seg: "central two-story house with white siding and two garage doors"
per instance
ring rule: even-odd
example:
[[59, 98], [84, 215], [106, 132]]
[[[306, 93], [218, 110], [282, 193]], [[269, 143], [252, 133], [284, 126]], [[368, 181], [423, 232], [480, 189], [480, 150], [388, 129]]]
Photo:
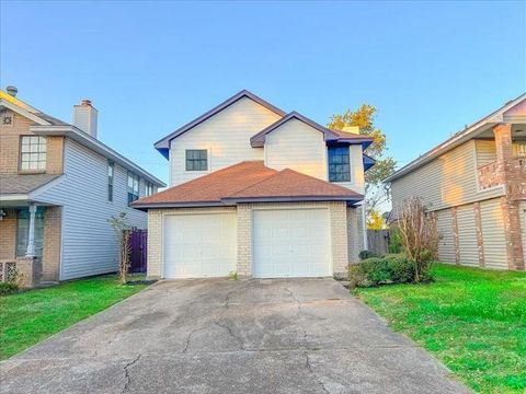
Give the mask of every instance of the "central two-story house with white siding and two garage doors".
[[148, 275], [346, 275], [371, 141], [239, 92], [155, 144], [170, 188], [133, 204], [148, 210]]

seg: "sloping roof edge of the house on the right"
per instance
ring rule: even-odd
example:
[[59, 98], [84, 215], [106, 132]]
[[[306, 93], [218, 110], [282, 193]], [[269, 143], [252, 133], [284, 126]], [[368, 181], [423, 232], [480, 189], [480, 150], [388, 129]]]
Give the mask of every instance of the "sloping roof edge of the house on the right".
[[511, 108], [522, 104], [526, 101], [526, 93], [521, 94], [518, 97], [508, 101], [506, 104], [492, 112], [490, 115], [484, 116], [483, 118], [477, 120], [470, 126], [466, 127], [464, 130], [457, 131], [451, 138], [448, 138], [441, 144], [431, 149], [426, 153], [414, 159], [409, 164], [405, 164], [398, 171], [396, 171], [391, 176], [387, 177], [384, 182], [392, 182], [402, 177], [403, 175], [411, 173], [412, 171], [421, 167], [422, 165], [433, 161], [439, 155], [455, 149], [456, 147], [469, 141], [471, 138], [478, 136], [481, 131], [484, 131], [488, 126], [493, 126], [504, 120], [504, 113]]

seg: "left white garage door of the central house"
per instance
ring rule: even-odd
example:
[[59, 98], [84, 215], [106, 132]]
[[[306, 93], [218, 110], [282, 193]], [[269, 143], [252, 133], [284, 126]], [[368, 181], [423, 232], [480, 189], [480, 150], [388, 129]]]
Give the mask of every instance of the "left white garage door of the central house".
[[236, 270], [236, 213], [167, 216], [164, 278], [224, 277]]

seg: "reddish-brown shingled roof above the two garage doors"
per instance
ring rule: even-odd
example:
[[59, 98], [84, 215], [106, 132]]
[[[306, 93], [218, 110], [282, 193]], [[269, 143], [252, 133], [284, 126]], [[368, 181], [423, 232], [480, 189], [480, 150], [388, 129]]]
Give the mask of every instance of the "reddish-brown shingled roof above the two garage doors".
[[363, 196], [345, 187], [263, 161], [245, 161], [171, 187], [132, 204], [134, 208], [209, 207], [240, 201], [357, 202]]

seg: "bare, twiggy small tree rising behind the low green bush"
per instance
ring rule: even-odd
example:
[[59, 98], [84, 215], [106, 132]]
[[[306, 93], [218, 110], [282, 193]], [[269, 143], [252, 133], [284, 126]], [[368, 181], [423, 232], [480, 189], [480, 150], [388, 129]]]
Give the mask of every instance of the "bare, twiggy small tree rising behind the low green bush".
[[408, 258], [414, 262], [414, 279], [420, 282], [438, 254], [436, 215], [430, 212], [420, 197], [404, 200], [397, 213], [402, 245]]

